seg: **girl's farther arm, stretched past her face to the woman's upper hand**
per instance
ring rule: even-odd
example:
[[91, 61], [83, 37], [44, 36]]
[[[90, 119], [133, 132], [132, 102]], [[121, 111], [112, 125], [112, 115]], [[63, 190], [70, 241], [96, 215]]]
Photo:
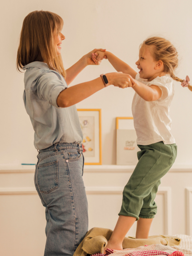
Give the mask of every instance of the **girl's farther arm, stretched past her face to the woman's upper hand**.
[[[131, 75], [133, 78], [136, 77], [137, 72], [132, 69], [128, 64], [126, 64], [123, 60], [116, 57], [114, 54], [106, 51], [106, 52], [96, 52], [94, 55], [92, 54], [94, 60], [102, 60], [104, 56], [107, 56], [110, 64], [113, 66], [113, 68], [116, 69], [116, 71], [121, 71], [125, 74]], [[95, 58], [94, 58], [95, 56]]]

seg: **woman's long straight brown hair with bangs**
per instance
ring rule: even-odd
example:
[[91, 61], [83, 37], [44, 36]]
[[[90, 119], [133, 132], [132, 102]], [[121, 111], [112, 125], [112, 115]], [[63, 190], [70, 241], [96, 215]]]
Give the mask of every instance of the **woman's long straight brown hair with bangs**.
[[44, 61], [51, 70], [59, 72], [64, 78], [66, 72], [61, 55], [57, 56], [53, 33], [61, 31], [63, 19], [47, 11], [34, 11], [28, 14], [20, 34], [17, 51], [16, 67], [21, 71], [24, 66], [33, 61]]

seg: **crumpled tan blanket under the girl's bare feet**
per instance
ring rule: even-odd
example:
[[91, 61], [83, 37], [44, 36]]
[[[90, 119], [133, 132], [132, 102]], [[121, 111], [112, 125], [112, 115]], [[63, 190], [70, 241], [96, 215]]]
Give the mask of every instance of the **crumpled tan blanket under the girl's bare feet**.
[[[77, 247], [73, 256], [86, 256], [96, 253], [103, 253], [104, 247], [110, 239], [112, 230], [108, 228], [92, 228], [90, 229], [80, 245]], [[132, 237], [125, 237], [123, 240], [123, 249], [137, 248], [138, 246], [163, 244], [163, 245], [178, 245], [180, 239], [173, 236], [150, 236], [148, 239], [135, 239]]]

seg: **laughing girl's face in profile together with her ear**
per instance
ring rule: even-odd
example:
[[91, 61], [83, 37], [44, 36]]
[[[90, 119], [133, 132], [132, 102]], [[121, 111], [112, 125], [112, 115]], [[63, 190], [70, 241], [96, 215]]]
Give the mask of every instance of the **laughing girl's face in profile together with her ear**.
[[157, 76], [162, 76], [164, 64], [161, 60], [155, 61], [151, 55], [151, 47], [142, 45], [139, 50], [139, 59], [136, 62], [139, 71], [139, 77], [151, 81]]

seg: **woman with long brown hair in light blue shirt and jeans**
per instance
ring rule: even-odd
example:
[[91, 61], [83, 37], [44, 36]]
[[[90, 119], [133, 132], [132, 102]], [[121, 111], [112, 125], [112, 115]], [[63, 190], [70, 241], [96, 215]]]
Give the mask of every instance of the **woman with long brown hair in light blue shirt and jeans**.
[[[24, 103], [39, 151], [35, 186], [45, 207], [47, 240], [44, 256], [72, 256], [88, 229], [87, 199], [82, 180], [82, 129], [75, 104], [106, 86], [131, 86], [127, 74], [74, 85], [73, 79], [96, 64], [92, 53], [65, 71], [61, 59], [62, 18], [35, 11], [26, 16], [17, 53], [17, 69], [25, 70]], [[107, 83], [108, 82], [108, 83]]]

